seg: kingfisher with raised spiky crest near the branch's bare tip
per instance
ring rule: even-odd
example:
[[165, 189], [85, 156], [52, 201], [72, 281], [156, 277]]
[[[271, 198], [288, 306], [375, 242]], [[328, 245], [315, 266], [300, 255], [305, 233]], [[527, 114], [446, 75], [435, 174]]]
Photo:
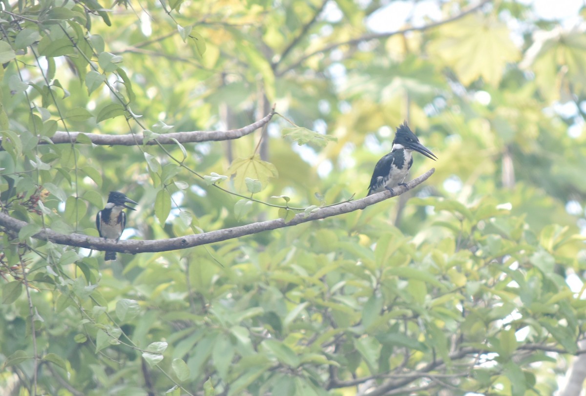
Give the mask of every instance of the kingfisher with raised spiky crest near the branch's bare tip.
[[392, 151], [381, 158], [374, 166], [367, 196], [405, 185], [403, 180], [405, 180], [411, 165], [413, 165], [413, 156], [411, 156], [413, 150], [434, 161], [437, 158], [434, 153], [419, 142], [417, 136], [407, 126], [407, 122], [403, 122], [397, 128]]

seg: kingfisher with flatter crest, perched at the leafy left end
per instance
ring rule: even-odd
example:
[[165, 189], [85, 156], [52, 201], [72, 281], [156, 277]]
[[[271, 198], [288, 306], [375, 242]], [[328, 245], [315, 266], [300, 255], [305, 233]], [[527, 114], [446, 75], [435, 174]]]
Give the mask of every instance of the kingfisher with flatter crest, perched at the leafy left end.
[[[124, 231], [124, 227], [126, 226], [126, 213], [124, 213], [124, 208], [136, 210], [134, 207], [128, 206], [127, 203], [138, 205], [137, 202], [134, 202], [121, 192], [110, 192], [106, 207], [98, 211], [98, 215], [96, 216], [96, 227], [98, 228], [100, 237], [115, 239], [116, 241], [120, 240], [120, 235], [122, 235], [122, 231]], [[104, 260], [116, 260], [116, 252], [106, 251]]]

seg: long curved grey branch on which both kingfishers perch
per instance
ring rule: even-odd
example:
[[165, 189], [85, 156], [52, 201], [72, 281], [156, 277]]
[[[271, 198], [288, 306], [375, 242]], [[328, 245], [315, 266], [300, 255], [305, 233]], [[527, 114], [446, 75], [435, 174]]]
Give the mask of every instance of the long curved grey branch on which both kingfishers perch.
[[[259, 221], [258, 223], [247, 224], [246, 226], [225, 228], [223, 230], [209, 231], [203, 234], [185, 235], [183, 237], [163, 240], [127, 240], [116, 242], [114, 240], [90, 237], [88, 235], [60, 234], [50, 230], [49, 228], [45, 228], [39, 233], [33, 235], [33, 238], [51, 241], [61, 245], [83, 247], [93, 250], [111, 250], [131, 254], [179, 250], [225, 241], [232, 238], [243, 237], [244, 235], [256, 234], [262, 231], [275, 230], [276, 228], [297, 226], [297, 224], [306, 223], [307, 221], [326, 219], [326, 217], [338, 216], [339, 214], [345, 214], [358, 209], [364, 209], [367, 206], [403, 194], [404, 192], [413, 189], [413, 187], [418, 186], [427, 180], [428, 177], [430, 177], [434, 172], [435, 168], [432, 168], [423, 175], [408, 182], [406, 186], [394, 187], [392, 192], [384, 191], [377, 194], [372, 194], [371, 196], [367, 196], [353, 202], [343, 202], [335, 206], [321, 207], [308, 214], [299, 213], [287, 223], [285, 223], [283, 219]], [[20, 231], [21, 228], [27, 224], [28, 223], [25, 221], [17, 220], [8, 216], [8, 214], [0, 213], [0, 226], [5, 227], [6, 229], [15, 233], [18, 233], [18, 231]]]

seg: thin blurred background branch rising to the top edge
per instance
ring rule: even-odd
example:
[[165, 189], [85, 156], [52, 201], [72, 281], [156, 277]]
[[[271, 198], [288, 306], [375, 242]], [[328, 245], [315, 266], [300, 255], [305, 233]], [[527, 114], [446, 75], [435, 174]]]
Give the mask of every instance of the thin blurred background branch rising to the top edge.
[[275, 76], [282, 76], [282, 74], [287, 73], [287, 71], [292, 70], [292, 69], [296, 69], [297, 67], [299, 67], [303, 62], [305, 62], [306, 59], [309, 59], [312, 56], [317, 55], [319, 53], [330, 52], [331, 50], [334, 50], [334, 49], [338, 48], [339, 46], [357, 45], [357, 44], [360, 44], [365, 41], [376, 40], [376, 39], [386, 39], [388, 37], [395, 36], [395, 35], [402, 35], [407, 32], [421, 32], [423, 30], [427, 30], [427, 29], [435, 28], [440, 25], [444, 25], [445, 23], [454, 22], [457, 19], [460, 19], [460, 18], [468, 15], [469, 13], [476, 11], [477, 9], [481, 8], [483, 5], [489, 3], [490, 1], [492, 1], [492, 0], [482, 0], [478, 4], [472, 6], [468, 9], [465, 9], [461, 13], [458, 13], [454, 16], [451, 16], [450, 18], [442, 19], [442, 21], [429, 23], [428, 25], [412, 26], [411, 28], [395, 30], [394, 32], [371, 33], [370, 35], [360, 36], [360, 37], [357, 37], [356, 39], [347, 40], [345, 42], [333, 43], [331, 45], [323, 47], [322, 49], [316, 50], [314, 52], [311, 52], [309, 54], [302, 56], [300, 59], [297, 60], [297, 62], [290, 64], [289, 66], [285, 67], [285, 69], [283, 69], [283, 70], [279, 70], [279, 71], [275, 70]]

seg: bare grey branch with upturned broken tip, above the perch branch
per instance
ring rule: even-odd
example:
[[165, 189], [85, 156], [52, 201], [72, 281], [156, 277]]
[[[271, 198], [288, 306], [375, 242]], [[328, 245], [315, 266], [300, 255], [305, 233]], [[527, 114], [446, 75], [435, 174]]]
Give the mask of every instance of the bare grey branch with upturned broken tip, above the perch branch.
[[[170, 134], [162, 134], [156, 136], [156, 138], [149, 139], [145, 144], [156, 145], [156, 144], [176, 144], [179, 143], [199, 143], [209, 141], [223, 141], [238, 139], [242, 136], [246, 136], [256, 131], [258, 128], [264, 127], [272, 116], [275, 114], [275, 108], [273, 107], [271, 112], [268, 113], [264, 118], [253, 122], [253, 124], [247, 125], [246, 127], [239, 129], [230, 129], [230, 131], [189, 131], [189, 132], [172, 132]], [[55, 134], [47, 140], [40, 140], [39, 144], [63, 144], [63, 143], [76, 143], [77, 136], [84, 135], [90, 138], [91, 142], [95, 145], [103, 146], [135, 146], [142, 144], [142, 139], [137, 139], [137, 135], [100, 135], [100, 134], [86, 134], [84, 132], [63, 132], [57, 131]], [[144, 135], [143, 135], [144, 136]], [[175, 139], [175, 140], [173, 140]], [[0, 144], [2, 140], [0, 139]]]

